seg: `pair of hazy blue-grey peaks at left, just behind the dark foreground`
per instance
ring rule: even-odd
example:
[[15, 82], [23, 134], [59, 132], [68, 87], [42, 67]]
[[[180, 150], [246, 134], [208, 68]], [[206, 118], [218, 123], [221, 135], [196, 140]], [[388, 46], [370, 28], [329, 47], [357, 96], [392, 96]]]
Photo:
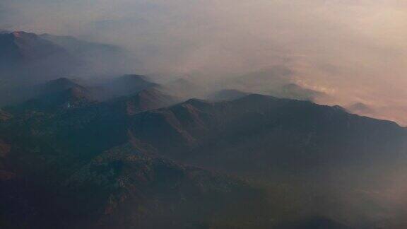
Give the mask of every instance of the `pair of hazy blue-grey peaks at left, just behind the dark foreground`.
[[85, 86], [73, 79], [58, 78], [22, 90], [16, 101], [24, 102], [14, 102], [14, 105], [5, 109], [13, 113], [34, 110], [54, 112], [58, 109], [73, 109], [105, 101], [93, 107], [111, 107], [110, 109], [119, 114], [124, 111], [135, 114], [181, 101], [180, 98], [164, 92], [172, 93], [172, 90], [168, 90], [166, 85], [153, 83], [148, 81], [147, 77], [138, 75], [113, 78], [99, 86]]

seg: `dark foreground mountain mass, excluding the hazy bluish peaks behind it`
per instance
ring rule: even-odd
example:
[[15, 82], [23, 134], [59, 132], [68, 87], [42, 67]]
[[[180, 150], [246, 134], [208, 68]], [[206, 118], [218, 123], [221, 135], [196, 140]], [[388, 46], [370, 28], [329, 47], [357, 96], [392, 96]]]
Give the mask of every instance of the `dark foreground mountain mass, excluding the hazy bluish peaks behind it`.
[[8, 114], [4, 227], [389, 227], [398, 208], [358, 190], [406, 165], [406, 129], [266, 95], [173, 105], [158, 89]]

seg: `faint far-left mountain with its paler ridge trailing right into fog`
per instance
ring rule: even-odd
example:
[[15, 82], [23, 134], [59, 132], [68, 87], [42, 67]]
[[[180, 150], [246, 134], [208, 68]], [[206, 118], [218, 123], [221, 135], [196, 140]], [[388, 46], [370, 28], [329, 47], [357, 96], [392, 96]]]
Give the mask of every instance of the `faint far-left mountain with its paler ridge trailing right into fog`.
[[123, 74], [120, 64], [129, 59], [113, 45], [23, 31], [1, 33], [0, 47], [1, 80], [6, 83], [37, 83], [71, 74]]

